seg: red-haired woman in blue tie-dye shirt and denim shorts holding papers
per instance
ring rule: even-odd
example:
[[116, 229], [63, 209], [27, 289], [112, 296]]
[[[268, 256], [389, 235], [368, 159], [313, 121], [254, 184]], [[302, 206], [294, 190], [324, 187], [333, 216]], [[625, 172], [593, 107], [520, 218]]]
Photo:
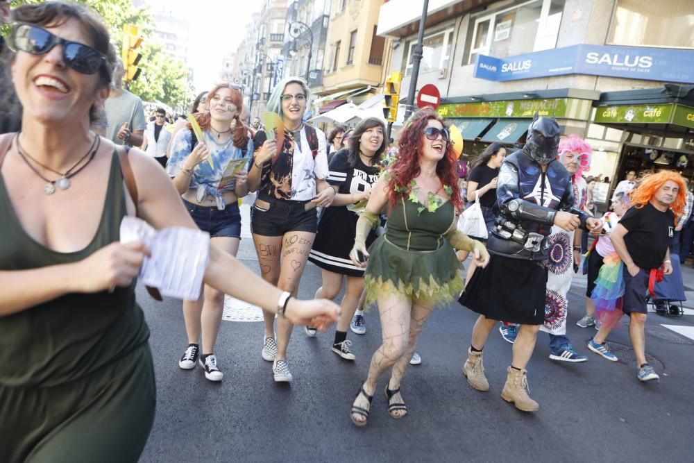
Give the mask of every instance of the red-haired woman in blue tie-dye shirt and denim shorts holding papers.
[[[242, 106], [236, 85], [212, 88], [208, 93], [209, 112], [197, 113], [187, 128], [176, 134], [167, 164], [167, 173], [174, 179], [195, 224], [210, 233], [215, 246], [231, 255], [236, 255], [241, 241], [237, 199], [248, 194], [245, 156], [253, 153], [248, 128], [239, 119]], [[196, 124], [201, 134], [196, 135]], [[202, 139], [198, 140], [200, 135]], [[238, 169], [234, 171], [234, 167]], [[214, 355], [223, 308], [224, 294], [209, 285], [198, 301], [183, 301], [188, 346], [178, 366], [194, 369], [199, 360], [210, 381], [223, 378]], [[202, 351], [198, 344], [201, 335]]]

